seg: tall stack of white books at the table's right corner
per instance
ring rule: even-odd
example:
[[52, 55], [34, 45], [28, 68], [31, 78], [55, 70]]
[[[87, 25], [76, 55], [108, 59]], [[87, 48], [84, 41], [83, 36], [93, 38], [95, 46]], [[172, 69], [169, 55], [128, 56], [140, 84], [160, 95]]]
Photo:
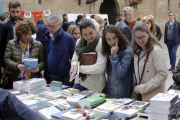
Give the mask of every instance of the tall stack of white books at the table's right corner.
[[150, 119], [169, 120], [176, 113], [179, 105], [179, 96], [177, 94], [158, 93], [150, 99]]

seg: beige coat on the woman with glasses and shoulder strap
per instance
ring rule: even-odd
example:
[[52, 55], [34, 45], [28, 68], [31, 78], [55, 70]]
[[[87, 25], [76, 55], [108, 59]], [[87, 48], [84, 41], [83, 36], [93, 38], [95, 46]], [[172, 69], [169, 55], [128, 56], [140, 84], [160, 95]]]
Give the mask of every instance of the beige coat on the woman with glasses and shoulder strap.
[[[146, 54], [139, 61], [139, 74], [141, 76], [144, 61], [146, 60]], [[138, 56], [134, 56], [134, 69], [136, 74], [136, 80], [139, 83], [138, 75]], [[166, 79], [168, 77], [168, 68], [163, 50], [160, 46], [155, 45], [154, 49], [149, 54], [148, 61], [146, 63], [144, 75], [139, 85], [140, 93], [142, 94], [142, 100], [149, 102], [149, 99], [154, 97], [158, 93], [164, 93], [166, 87]]]

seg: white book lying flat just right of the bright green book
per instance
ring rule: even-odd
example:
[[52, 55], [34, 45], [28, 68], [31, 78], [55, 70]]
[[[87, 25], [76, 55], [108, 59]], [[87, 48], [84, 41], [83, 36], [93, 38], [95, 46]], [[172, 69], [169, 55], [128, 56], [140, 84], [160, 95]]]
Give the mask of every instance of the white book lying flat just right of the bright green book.
[[102, 111], [112, 112], [122, 106], [123, 106], [123, 104], [121, 104], [121, 103], [108, 101], [108, 102], [98, 106], [97, 109], [102, 110]]

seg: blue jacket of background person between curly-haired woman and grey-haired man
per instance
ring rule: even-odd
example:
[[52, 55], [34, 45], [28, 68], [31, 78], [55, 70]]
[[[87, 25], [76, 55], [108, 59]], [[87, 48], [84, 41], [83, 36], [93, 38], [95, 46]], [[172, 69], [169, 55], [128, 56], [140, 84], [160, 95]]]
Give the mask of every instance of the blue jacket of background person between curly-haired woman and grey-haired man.
[[37, 32], [37, 35], [36, 35], [36, 40], [40, 41], [43, 46], [45, 44], [45, 37], [44, 37], [44, 34], [48, 31], [46, 25], [42, 22], [39, 22], [37, 23], [37, 28], [38, 28], [38, 32]]

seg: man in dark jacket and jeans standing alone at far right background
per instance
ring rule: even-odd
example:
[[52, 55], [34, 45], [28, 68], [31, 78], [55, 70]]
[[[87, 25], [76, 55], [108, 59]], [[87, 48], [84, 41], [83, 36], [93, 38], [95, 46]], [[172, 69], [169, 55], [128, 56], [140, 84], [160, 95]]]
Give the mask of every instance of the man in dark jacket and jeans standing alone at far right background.
[[180, 22], [175, 20], [175, 13], [169, 12], [169, 21], [165, 24], [164, 43], [169, 51], [170, 65], [169, 71], [175, 71], [176, 52], [180, 44]]

